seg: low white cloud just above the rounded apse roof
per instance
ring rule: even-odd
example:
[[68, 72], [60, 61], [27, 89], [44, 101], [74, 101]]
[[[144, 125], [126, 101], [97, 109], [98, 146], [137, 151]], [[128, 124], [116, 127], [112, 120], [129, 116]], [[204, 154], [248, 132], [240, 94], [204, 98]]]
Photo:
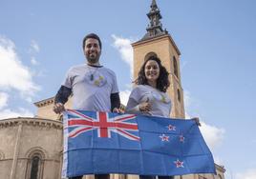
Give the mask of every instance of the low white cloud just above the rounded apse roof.
[[18, 109], [16, 111], [11, 109], [0, 110], [0, 119], [7, 119], [12, 117], [33, 117], [34, 115], [28, 109]]

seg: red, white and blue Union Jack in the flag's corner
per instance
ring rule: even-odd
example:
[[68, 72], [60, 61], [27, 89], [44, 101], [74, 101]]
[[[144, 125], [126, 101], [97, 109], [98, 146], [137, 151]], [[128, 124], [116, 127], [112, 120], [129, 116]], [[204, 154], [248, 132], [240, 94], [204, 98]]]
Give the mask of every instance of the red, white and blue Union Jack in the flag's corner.
[[[111, 132], [126, 137], [130, 140], [139, 141], [138, 134], [131, 131], [139, 131], [135, 114], [123, 114], [110, 116], [108, 112], [96, 112], [96, 118], [90, 117], [79, 110], [67, 109], [72, 116], [68, 121], [68, 128], [72, 128], [69, 137], [74, 138], [89, 130], [97, 130], [98, 137], [111, 138]], [[128, 122], [129, 121], [129, 122]]]

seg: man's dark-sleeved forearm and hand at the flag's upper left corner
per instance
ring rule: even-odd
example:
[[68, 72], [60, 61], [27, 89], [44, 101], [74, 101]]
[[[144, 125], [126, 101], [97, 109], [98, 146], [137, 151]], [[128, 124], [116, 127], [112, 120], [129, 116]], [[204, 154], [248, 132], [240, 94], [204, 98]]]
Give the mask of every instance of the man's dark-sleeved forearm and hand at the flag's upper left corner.
[[72, 89], [69, 89], [65, 86], [61, 86], [60, 89], [58, 89], [57, 94], [54, 98], [54, 106], [53, 111], [55, 113], [61, 113], [65, 110], [64, 104], [68, 101], [69, 96], [72, 93]]

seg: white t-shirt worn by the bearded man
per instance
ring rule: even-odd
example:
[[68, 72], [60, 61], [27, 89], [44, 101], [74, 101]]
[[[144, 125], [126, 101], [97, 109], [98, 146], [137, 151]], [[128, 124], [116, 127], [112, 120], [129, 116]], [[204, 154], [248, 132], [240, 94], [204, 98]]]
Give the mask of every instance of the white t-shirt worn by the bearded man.
[[110, 95], [118, 92], [114, 71], [86, 64], [68, 70], [62, 85], [72, 89], [74, 109], [110, 111]]

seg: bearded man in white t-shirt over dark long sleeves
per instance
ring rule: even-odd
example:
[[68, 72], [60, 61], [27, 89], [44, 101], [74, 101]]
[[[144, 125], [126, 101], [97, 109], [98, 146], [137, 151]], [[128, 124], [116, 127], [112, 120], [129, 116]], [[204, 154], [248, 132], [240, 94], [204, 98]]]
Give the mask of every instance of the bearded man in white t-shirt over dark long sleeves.
[[[67, 72], [65, 81], [55, 96], [53, 111], [64, 111], [64, 104], [73, 93], [74, 109], [121, 112], [116, 74], [99, 64], [99, 37], [95, 33], [86, 35], [82, 47], [87, 61]], [[81, 178], [82, 176], [77, 176], [71, 179]], [[96, 178], [108, 179], [109, 174], [97, 174]]]

